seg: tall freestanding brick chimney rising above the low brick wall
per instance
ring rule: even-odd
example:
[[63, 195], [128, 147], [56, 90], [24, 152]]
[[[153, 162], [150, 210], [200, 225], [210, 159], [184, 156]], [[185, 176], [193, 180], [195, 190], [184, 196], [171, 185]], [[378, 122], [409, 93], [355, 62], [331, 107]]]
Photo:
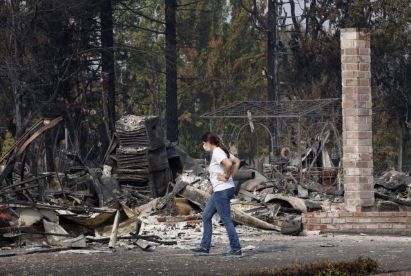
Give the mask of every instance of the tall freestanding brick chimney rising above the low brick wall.
[[367, 29], [341, 30], [344, 201], [352, 212], [374, 205], [370, 54]]

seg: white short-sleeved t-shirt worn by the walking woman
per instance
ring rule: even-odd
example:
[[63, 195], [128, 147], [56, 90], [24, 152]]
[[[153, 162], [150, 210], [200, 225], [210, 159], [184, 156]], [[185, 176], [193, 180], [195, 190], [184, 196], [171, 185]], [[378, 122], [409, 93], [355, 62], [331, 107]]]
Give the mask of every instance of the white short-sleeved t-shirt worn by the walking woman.
[[[221, 161], [226, 159], [227, 155], [222, 150], [221, 148], [215, 148], [213, 150], [213, 153], [211, 155], [211, 161], [210, 161], [210, 166], [209, 166], [209, 173], [210, 173], [210, 181], [211, 184], [213, 184], [213, 190], [214, 192], [219, 192], [220, 190], [227, 190], [229, 188], [235, 187], [233, 177], [231, 177], [227, 181], [222, 181], [218, 180], [217, 177], [220, 173], [223, 173], [225, 175], [225, 166], [221, 164]], [[231, 161], [234, 161], [236, 157], [234, 155], [231, 155], [230, 153], [230, 158]]]

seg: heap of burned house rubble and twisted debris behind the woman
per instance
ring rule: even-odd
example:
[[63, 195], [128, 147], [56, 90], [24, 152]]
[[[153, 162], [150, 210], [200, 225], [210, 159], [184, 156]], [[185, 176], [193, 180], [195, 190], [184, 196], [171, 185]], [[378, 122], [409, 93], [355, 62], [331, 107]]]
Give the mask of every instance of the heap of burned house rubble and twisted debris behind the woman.
[[[147, 250], [159, 245], [189, 248], [198, 242], [201, 212], [212, 193], [206, 164], [166, 141], [157, 117], [128, 115], [117, 121], [99, 168], [72, 158], [73, 166], [61, 172], [26, 172], [30, 144], [61, 120], [40, 120], [0, 159], [5, 164], [0, 175], [2, 248]], [[293, 175], [295, 159], [289, 152], [282, 155], [287, 157], [283, 168], [265, 164], [262, 172], [242, 162], [231, 202], [240, 237], [298, 235], [301, 214], [344, 210], [336, 175], [328, 186], [310, 175], [300, 179]], [[409, 210], [410, 187], [409, 173], [388, 170], [375, 181], [377, 207]], [[218, 215], [213, 223], [213, 239], [227, 242], [227, 235], [220, 235], [225, 229]]]

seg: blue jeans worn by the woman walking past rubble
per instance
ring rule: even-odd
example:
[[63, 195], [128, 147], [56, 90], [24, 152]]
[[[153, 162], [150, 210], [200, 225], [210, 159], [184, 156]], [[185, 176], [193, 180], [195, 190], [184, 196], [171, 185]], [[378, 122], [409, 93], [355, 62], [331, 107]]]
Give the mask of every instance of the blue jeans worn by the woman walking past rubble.
[[213, 224], [211, 222], [211, 219], [215, 213], [218, 213], [218, 215], [220, 215], [221, 217], [222, 223], [227, 229], [231, 249], [241, 249], [236, 227], [234, 227], [230, 214], [230, 199], [232, 199], [233, 196], [234, 188], [214, 192], [213, 195], [211, 195], [209, 202], [207, 202], [206, 208], [204, 208], [204, 211], [202, 212], [202, 221], [204, 227], [201, 239], [202, 247], [206, 249], [210, 249], [211, 247], [211, 235], [213, 235]]

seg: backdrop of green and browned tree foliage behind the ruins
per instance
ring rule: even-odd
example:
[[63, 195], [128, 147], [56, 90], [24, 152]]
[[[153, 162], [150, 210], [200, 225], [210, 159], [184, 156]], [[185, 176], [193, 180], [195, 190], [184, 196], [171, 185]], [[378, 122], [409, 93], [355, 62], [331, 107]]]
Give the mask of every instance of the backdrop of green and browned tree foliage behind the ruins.
[[[10, 38], [0, 41], [0, 126], [15, 136], [19, 118], [30, 126], [38, 117], [63, 116], [75, 150], [85, 156], [93, 148], [89, 157], [99, 159], [96, 145], [106, 135], [99, 67], [104, 49], [96, 20], [102, 0], [15, 3], [19, 9], [12, 10], [10, 1], [0, 3], [0, 36]], [[266, 20], [267, 2], [258, 3]], [[280, 99], [341, 97], [340, 30], [369, 28], [374, 167], [396, 166], [396, 125], [403, 127], [403, 161], [410, 164], [411, 135], [405, 128], [411, 121], [409, 1], [305, 3], [303, 21], [281, 26]], [[117, 119], [134, 114], [164, 121], [164, 1], [113, 0], [113, 10]], [[238, 1], [179, 0], [176, 16], [180, 146], [203, 157], [200, 136], [210, 121], [201, 115], [235, 101], [267, 99], [267, 35]], [[242, 157], [261, 155], [269, 143], [266, 130], [243, 128], [236, 141], [243, 124], [211, 121]], [[248, 143], [253, 135], [259, 137], [258, 149]]]

